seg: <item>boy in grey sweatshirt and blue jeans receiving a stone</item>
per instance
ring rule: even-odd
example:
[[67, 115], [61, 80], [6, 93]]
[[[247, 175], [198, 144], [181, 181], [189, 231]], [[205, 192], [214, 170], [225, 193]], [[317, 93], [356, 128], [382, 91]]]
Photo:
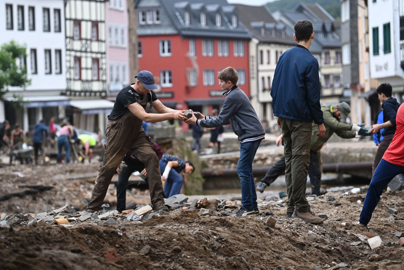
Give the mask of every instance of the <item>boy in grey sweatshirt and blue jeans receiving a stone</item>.
[[192, 115], [185, 123], [196, 124], [204, 128], [231, 125], [231, 129], [241, 142], [237, 174], [241, 183], [241, 203], [243, 206], [234, 216], [255, 216], [259, 214], [259, 210], [254, 176], [252, 175], [252, 161], [261, 141], [265, 138], [265, 130], [247, 95], [236, 85], [238, 81], [236, 70], [227, 67], [221, 70], [217, 77], [220, 80], [219, 86], [225, 91], [223, 95], [226, 96], [219, 115], [206, 117], [202, 113], [198, 113], [199, 119]]

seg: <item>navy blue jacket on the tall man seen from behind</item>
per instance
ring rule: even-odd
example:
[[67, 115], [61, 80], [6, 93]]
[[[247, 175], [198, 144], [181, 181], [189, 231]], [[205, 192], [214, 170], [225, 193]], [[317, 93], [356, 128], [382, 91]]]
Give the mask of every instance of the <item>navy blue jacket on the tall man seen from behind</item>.
[[301, 45], [285, 51], [276, 64], [271, 97], [274, 115], [303, 122], [324, 122], [318, 62]]

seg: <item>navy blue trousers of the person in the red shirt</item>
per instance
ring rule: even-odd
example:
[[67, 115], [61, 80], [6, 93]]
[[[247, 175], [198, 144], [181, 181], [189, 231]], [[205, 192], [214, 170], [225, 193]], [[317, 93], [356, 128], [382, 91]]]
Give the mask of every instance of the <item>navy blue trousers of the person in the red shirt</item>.
[[390, 183], [396, 175], [404, 173], [404, 167], [390, 163], [385, 159], [381, 159], [379, 166], [373, 174], [369, 184], [368, 193], [363, 203], [362, 212], [360, 213], [359, 222], [368, 225], [372, 218], [372, 213], [380, 200], [383, 189]]

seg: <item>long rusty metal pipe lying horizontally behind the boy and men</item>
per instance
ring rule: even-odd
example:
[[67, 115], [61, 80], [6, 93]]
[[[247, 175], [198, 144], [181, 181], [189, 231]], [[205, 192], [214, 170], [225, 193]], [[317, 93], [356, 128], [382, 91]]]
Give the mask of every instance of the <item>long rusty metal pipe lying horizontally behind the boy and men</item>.
[[[323, 172], [344, 172], [347, 170], [371, 170], [373, 162], [349, 162], [349, 163], [325, 163]], [[265, 174], [270, 167], [252, 168], [253, 174]], [[203, 169], [202, 176], [205, 178], [215, 176], [237, 176], [237, 170], [234, 169]]]

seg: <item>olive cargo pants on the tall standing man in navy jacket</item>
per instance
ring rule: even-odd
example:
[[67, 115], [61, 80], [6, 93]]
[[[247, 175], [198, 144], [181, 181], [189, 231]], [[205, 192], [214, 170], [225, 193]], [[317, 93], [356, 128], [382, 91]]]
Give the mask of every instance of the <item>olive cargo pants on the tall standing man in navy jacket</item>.
[[285, 153], [287, 212], [306, 212], [307, 174], [310, 164], [311, 123], [279, 117]]

